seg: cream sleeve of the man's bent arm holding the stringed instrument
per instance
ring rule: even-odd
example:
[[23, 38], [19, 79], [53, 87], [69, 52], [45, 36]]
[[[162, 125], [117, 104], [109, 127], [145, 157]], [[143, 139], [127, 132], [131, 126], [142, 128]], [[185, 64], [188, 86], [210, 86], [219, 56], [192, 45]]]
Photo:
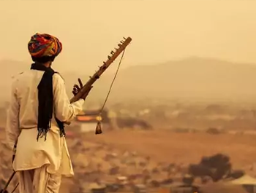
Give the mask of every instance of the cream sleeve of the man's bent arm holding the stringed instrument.
[[55, 116], [61, 122], [71, 122], [80, 111], [83, 111], [83, 99], [75, 103], [69, 102], [64, 79], [59, 74], [53, 75], [53, 101]]

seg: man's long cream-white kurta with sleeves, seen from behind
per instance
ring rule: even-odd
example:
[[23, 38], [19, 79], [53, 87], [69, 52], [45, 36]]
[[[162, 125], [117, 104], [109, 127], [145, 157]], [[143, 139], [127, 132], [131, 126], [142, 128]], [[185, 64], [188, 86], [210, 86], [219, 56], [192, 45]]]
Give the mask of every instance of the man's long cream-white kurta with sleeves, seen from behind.
[[[44, 71], [29, 70], [19, 74], [12, 82], [10, 109], [7, 112], [7, 143], [12, 148], [18, 139], [13, 169], [31, 170], [48, 165], [48, 173], [73, 176], [72, 163], [65, 138], [59, 135], [56, 121], [52, 119], [47, 139], [37, 141], [38, 99], [37, 85]], [[71, 122], [82, 111], [84, 100], [69, 103], [64, 79], [53, 75], [53, 114], [61, 122]]]

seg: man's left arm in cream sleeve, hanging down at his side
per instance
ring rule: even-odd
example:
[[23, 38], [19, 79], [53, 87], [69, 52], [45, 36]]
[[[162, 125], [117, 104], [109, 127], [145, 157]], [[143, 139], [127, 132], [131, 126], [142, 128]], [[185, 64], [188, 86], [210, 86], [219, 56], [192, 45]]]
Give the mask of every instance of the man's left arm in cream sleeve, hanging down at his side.
[[12, 83], [10, 106], [7, 110], [7, 124], [5, 127], [7, 144], [12, 149], [20, 135], [19, 127], [20, 104], [17, 98], [17, 87]]

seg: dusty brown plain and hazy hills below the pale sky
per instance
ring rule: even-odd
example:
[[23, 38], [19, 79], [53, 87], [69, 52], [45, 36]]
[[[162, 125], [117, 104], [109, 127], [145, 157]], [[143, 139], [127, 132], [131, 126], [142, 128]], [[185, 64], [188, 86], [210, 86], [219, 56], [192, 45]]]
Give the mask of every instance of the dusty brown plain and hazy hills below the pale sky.
[[[26, 63], [13, 60], [1, 63], [18, 66], [15, 71], [7, 68], [6, 79], [27, 68]], [[161, 190], [165, 186], [180, 183], [195, 186], [194, 192], [244, 193], [242, 186], [224, 183], [243, 175], [256, 177], [255, 72], [253, 64], [211, 58], [121, 71], [105, 107], [110, 127], [104, 127], [102, 135], [84, 133], [81, 122], [67, 127], [75, 177], [64, 178], [60, 192], [82, 193], [100, 187], [107, 192], [136, 192], [137, 186], [165, 192]], [[67, 90], [82, 77], [72, 72], [63, 76]], [[100, 108], [112, 78], [113, 74], [106, 74], [95, 84], [85, 110]], [[4, 145], [10, 82], [0, 82], [0, 87], [7, 91], [0, 103], [3, 186], [12, 173], [12, 152]], [[208, 159], [211, 164], [203, 164]]]

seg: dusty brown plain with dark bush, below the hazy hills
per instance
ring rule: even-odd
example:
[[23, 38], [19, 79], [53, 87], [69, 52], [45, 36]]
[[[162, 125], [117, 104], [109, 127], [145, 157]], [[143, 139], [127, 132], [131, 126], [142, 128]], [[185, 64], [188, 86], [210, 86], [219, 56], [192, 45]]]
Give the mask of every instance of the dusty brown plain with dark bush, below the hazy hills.
[[[85, 112], [99, 109], [99, 101], [89, 98]], [[0, 186], [12, 173], [12, 151], [4, 144], [7, 106], [0, 108]], [[63, 178], [60, 193], [166, 192], [170, 186], [179, 186], [177, 193], [244, 193], [231, 182], [256, 177], [253, 102], [119, 98], [105, 112], [101, 135], [78, 120], [66, 128], [75, 176]]]

